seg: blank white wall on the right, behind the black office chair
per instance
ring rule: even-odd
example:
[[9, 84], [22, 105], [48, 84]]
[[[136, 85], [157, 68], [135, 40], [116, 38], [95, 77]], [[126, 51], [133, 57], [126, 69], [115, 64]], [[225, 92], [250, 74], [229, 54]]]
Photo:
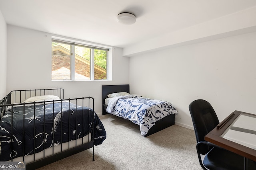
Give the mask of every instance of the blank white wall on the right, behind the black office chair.
[[171, 102], [176, 124], [192, 129], [189, 104], [204, 99], [220, 121], [256, 114], [256, 32], [130, 58], [130, 91]]

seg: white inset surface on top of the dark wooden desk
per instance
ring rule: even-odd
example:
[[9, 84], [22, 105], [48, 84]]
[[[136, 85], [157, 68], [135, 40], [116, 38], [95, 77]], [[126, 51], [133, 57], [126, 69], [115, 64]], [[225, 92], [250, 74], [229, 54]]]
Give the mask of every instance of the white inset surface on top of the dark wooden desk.
[[[256, 117], [240, 115], [232, 127], [256, 131]], [[256, 135], [229, 129], [223, 138], [256, 150]]]

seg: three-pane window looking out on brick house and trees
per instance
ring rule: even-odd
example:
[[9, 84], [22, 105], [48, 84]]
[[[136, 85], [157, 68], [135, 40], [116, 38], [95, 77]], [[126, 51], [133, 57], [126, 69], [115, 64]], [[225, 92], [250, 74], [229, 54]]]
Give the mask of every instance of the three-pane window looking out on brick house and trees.
[[108, 51], [52, 39], [52, 80], [107, 80]]

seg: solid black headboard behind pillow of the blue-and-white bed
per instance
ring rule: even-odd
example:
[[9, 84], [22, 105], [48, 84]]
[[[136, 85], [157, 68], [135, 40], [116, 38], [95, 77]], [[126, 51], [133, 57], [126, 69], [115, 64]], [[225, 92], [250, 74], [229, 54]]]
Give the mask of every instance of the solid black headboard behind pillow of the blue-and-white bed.
[[108, 98], [108, 94], [117, 92], [127, 92], [130, 93], [129, 84], [120, 85], [105, 85], [102, 86], [102, 105], [105, 104], [105, 99]]

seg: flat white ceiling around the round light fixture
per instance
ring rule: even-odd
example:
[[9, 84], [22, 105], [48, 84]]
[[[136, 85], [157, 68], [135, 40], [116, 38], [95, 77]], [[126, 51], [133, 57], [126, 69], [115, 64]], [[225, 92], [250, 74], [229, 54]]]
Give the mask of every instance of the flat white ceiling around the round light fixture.
[[[122, 48], [254, 6], [256, 0], [0, 0], [7, 24]], [[118, 23], [121, 12], [136, 23]]]

